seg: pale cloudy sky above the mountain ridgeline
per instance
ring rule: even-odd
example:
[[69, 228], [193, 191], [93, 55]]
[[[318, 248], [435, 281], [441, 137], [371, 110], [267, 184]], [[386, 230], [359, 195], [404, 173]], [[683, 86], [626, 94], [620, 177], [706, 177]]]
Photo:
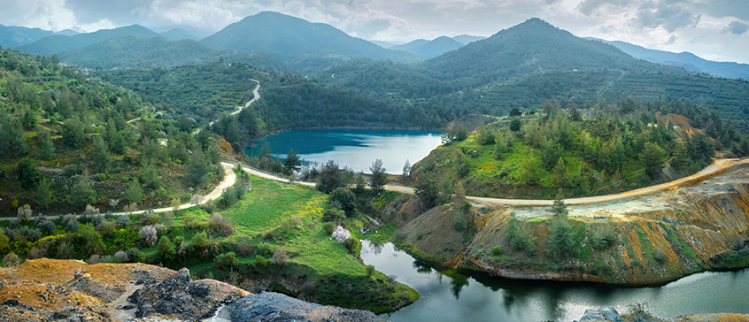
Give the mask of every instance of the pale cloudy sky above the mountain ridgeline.
[[489, 36], [538, 17], [578, 36], [749, 63], [749, 0], [0, 0], [0, 24], [208, 35], [262, 11], [324, 22], [368, 40]]

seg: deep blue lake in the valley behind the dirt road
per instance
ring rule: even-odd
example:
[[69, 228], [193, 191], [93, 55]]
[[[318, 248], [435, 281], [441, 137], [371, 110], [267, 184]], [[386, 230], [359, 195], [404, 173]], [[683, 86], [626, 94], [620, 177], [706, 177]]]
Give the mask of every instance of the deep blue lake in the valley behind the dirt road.
[[295, 130], [252, 142], [244, 153], [257, 155], [264, 142], [269, 142], [271, 152], [280, 157], [294, 149], [307, 162], [324, 164], [334, 160], [338, 165], [364, 173], [369, 173], [369, 166], [379, 158], [387, 173], [398, 174], [402, 173], [406, 159], [413, 165], [441, 144], [440, 134], [405, 130]]

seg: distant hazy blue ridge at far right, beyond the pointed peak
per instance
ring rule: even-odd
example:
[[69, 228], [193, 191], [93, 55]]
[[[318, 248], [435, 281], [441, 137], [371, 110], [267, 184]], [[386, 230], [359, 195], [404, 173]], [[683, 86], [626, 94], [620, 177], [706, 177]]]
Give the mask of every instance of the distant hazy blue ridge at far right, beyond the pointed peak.
[[645, 59], [652, 63], [683, 67], [688, 71], [709, 73], [713, 76], [743, 78], [749, 80], [749, 65], [747, 64], [716, 62], [699, 58], [697, 55], [687, 51], [676, 53], [664, 50], [650, 50], [629, 42], [598, 41], [612, 44], [616, 48], [632, 55], [634, 58]]

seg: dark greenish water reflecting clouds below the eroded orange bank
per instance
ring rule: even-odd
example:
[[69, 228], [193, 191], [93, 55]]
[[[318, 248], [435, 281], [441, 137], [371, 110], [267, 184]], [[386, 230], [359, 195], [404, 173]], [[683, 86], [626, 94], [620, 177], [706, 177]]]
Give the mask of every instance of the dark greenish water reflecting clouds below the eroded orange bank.
[[421, 295], [405, 308], [383, 314], [393, 322], [572, 321], [588, 309], [612, 306], [620, 313], [645, 303], [653, 315], [673, 318], [707, 312], [749, 313], [749, 270], [702, 272], [656, 288], [528, 282], [477, 272], [437, 272], [392, 243], [362, 241], [361, 258]]

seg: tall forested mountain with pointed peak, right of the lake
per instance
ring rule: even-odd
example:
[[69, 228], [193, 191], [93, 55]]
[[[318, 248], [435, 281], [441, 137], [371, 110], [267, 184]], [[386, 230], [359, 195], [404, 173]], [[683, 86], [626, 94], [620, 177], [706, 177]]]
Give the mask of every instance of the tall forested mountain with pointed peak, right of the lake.
[[632, 58], [614, 46], [575, 37], [535, 18], [421, 65], [439, 73], [442, 79], [472, 85], [552, 71], [668, 70]]

